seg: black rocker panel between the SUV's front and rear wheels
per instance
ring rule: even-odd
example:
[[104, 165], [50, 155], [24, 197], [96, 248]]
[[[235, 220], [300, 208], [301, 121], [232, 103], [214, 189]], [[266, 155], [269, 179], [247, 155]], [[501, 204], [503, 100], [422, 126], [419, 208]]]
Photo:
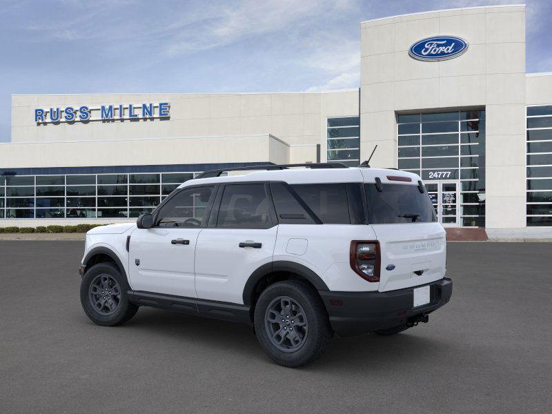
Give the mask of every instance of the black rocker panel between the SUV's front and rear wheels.
[[140, 306], [251, 324], [250, 306], [163, 293], [128, 290], [128, 300]]

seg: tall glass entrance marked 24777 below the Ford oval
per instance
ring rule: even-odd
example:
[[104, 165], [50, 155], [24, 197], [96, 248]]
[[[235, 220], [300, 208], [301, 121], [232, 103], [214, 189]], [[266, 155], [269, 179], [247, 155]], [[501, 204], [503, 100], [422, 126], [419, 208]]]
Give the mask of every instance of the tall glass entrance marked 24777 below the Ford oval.
[[484, 226], [484, 130], [484, 110], [397, 115], [399, 168], [419, 174], [426, 186], [431, 181], [460, 181], [460, 204], [442, 212], [446, 223]]

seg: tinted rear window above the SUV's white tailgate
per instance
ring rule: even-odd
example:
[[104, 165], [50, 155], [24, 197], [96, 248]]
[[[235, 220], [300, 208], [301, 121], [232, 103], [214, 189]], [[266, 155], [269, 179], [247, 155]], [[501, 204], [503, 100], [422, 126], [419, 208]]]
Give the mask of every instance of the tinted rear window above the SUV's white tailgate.
[[370, 224], [431, 223], [437, 221], [426, 191], [406, 184], [365, 184]]

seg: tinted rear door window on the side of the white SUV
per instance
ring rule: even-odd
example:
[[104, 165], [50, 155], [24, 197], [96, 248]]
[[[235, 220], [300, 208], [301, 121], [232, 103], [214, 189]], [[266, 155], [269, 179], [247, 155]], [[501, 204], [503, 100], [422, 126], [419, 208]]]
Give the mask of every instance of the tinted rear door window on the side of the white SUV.
[[264, 184], [230, 184], [224, 188], [217, 227], [270, 228]]

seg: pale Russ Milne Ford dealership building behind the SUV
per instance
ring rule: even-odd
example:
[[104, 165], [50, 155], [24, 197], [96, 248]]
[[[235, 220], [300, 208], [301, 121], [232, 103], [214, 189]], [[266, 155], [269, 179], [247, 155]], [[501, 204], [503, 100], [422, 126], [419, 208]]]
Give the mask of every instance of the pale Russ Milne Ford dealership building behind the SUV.
[[376, 146], [445, 226], [552, 226], [552, 73], [526, 73], [525, 26], [523, 5], [364, 21], [351, 90], [13, 95], [0, 226], [129, 221], [204, 170]]

